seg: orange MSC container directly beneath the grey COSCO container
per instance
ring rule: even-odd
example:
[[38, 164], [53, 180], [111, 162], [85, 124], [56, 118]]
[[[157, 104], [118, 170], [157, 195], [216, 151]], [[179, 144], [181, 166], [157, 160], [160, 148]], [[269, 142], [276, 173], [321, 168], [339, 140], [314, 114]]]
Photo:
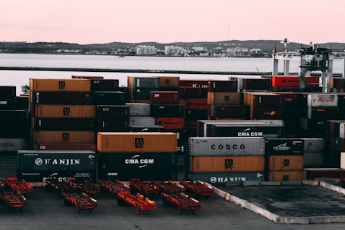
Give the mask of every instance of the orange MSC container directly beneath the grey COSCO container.
[[262, 172], [264, 169], [264, 156], [190, 157], [193, 173]]

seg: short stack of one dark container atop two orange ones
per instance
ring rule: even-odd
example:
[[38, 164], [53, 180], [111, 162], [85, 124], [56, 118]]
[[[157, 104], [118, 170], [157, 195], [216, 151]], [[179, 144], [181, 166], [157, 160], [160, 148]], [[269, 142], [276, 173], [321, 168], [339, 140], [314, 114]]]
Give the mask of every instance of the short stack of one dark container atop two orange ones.
[[268, 181], [302, 181], [304, 140], [266, 138], [266, 175]]

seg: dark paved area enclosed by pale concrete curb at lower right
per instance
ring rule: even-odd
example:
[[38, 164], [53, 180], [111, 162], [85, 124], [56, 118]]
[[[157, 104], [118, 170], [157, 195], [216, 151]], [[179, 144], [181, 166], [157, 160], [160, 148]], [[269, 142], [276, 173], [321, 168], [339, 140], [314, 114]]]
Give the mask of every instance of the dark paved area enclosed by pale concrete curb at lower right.
[[319, 186], [230, 186], [226, 190], [279, 216], [345, 215], [345, 195]]

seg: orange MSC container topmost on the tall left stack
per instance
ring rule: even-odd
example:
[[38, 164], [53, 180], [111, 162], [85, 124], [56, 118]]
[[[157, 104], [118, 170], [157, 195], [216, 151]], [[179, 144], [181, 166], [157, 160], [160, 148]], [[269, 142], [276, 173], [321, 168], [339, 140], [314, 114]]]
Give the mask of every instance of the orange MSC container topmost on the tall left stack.
[[90, 92], [90, 79], [32, 79], [32, 91], [65, 91], [65, 92]]

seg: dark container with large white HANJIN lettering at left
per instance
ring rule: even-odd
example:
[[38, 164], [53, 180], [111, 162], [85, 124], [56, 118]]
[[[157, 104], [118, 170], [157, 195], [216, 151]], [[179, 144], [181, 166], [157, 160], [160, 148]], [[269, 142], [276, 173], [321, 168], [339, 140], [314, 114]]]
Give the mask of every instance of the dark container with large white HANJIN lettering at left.
[[18, 151], [17, 169], [22, 172], [95, 171], [94, 151]]

